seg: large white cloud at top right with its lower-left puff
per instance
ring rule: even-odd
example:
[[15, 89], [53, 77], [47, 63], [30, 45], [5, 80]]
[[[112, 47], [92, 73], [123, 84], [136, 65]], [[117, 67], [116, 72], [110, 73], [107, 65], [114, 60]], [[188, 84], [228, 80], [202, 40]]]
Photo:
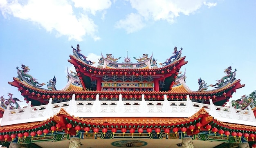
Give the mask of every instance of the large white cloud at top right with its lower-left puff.
[[[120, 20], [116, 25], [117, 28], [126, 29], [127, 33], [132, 33], [142, 29], [145, 25], [142, 20], [145, 21], [159, 21], [165, 20], [169, 23], [175, 22], [175, 19], [180, 14], [190, 15], [194, 13], [205, 3], [207, 6], [216, 6], [217, 3], [206, 3], [205, 0], [129, 0], [131, 7], [137, 11], [137, 13], [131, 13], [124, 20]], [[132, 18], [133, 15], [133, 18]], [[139, 17], [139, 15], [142, 17]], [[134, 17], [136, 16], [136, 17]], [[138, 19], [138, 20], [135, 20]], [[131, 21], [139, 22], [143, 24], [141, 26], [133, 25]], [[128, 24], [125, 24], [128, 23]]]

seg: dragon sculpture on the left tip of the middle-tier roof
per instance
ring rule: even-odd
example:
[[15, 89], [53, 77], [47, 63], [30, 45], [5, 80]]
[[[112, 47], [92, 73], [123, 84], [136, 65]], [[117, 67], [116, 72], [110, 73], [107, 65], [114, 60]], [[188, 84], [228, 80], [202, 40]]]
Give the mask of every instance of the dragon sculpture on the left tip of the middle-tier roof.
[[32, 84], [33, 86], [37, 86], [37, 87], [41, 87], [43, 85], [45, 85], [45, 83], [38, 83], [36, 81], [36, 78], [33, 78], [31, 75], [27, 74], [27, 72], [30, 70], [28, 66], [25, 65], [21, 65], [22, 70], [20, 70], [18, 67], [16, 67], [18, 69], [18, 75], [21, 76], [22, 80], [27, 81], [29, 84]]

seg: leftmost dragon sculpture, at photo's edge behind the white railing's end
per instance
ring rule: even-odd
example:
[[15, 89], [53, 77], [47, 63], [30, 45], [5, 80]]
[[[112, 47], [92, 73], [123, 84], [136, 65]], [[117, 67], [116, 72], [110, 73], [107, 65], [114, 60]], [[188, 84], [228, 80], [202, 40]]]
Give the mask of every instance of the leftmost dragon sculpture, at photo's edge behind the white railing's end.
[[18, 98], [14, 97], [12, 98], [13, 94], [8, 93], [8, 99], [4, 99], [4, 96], [0, 97], [1, 100], [1, 106], [5, 109], [7, 109], [7, 105], [10, 105], [10, 109], [18, 109], [20, 108], [20, 105], [17, 103], [17, 101], [20, 101]]

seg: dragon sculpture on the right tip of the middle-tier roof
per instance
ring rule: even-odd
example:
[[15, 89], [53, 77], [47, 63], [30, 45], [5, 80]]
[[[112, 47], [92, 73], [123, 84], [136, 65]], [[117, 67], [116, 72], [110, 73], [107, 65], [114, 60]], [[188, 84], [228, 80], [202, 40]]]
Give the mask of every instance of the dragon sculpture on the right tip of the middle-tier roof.
[[211, 87], [215, 87], [215, 88], [220, 88], [221, 86], [227, 84], [229, 81], [235, 79], [236, 76], [236, 69], [234, 72], [231, 71], [232, 68], [231, 66], [229, 66], [227, 69], [225, 69], [224, 73], [226, 73], [227, 75], [225, 75], [224, 77], [222, 77], [220, 80], [217, 80], [216, 84], [210, 84], [209, 86]]

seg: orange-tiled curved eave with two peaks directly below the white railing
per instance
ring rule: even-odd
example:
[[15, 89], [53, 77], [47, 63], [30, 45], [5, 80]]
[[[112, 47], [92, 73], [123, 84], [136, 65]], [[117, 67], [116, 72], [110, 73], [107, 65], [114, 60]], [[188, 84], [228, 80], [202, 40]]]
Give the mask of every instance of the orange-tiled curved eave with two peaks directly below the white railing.
[[[172, 117], [102, 117], [102, 118], [86, 118], [86, 117], [74, 117], [67, 113], [63, 108], [47, 120], [32, 122], [32, 123], [24, 123], [24, 124], [14, 124], [9, 126], [1, 126], [0, 133], [7, 133], [7, 132], [20, 132], [24, 130], [36, 130], [36, 128], [48, 128], [48, 126], [52, 126], [56, 123], [61, 124], [61, 128], [59, 130], [67, 130], [65, 125], [66, 120], [73, 121], [77, 125], [81, 124], [90, 124], [90, 126], [119, 126], [119, 125], [136, 125], [136, 126], [183, 126], [184, 124], [196, 124], [198, 121], [203, 124], [200, 128], [200, 131], [207, 131], [205, 129], [205, 125], [217, 124], [218, 127], [225, 130], [241, 130], [242, 133], [254, 133], [256, 131], [256, 126], [246, 126], [241, 124], [230, 124], [222, 121], [218, 121], [214, 119], [211, 115], [207, 113], [204, 108], [198, 110], [197, 113], [192, 115], [191, 117], [180, 117], [180, 118], [172, 118]], [[80, 125], [80, 124], [79, 124]], [[72, 133], [70, 130], [70, 133]], [[82, 130], [82, 129], [81, 129]], [[75, 130], [74, 130], [75, 131]], [[196, 130], [194, 134], [198, 132]], [[76, 133], [76, 132], [74, 132]]]

